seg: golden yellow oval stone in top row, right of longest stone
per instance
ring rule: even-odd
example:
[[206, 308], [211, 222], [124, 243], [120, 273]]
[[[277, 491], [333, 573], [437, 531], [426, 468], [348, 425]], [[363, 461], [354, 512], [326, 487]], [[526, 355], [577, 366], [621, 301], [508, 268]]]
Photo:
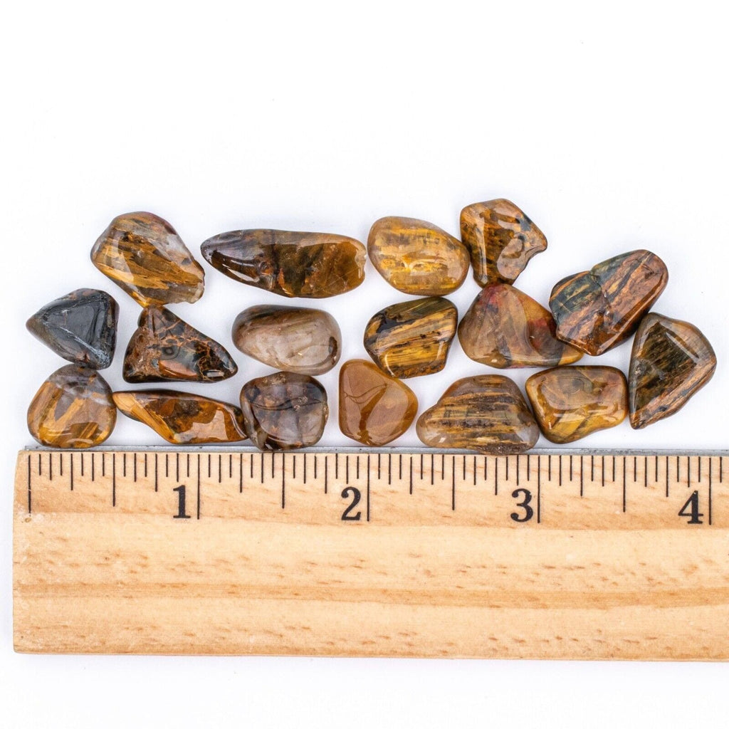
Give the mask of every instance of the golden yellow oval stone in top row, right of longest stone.
[[385, 281], [405, 294], [450, 294], [463, 283], [469, 268], [468, 251], [458, 238], [415, 218], [376, 221], [367, 252]]

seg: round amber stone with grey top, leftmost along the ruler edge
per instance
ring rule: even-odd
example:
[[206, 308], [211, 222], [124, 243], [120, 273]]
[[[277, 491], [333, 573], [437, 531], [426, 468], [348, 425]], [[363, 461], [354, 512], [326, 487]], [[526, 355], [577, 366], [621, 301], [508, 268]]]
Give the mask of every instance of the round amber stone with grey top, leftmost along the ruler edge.
[[66, 364], [42, 384], [28, 408], [28, 430], [51, 448], [104, 443], [117, 422], [112, 390], [90, 367]]

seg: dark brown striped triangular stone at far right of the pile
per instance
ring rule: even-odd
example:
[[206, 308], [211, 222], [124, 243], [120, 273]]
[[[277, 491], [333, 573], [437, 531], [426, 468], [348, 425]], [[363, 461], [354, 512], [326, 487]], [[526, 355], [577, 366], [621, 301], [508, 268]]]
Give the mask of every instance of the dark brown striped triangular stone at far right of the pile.
[[644, 428], [676, 413], [716, 367], [711, 344], [693, 324], [658, 313], [645, 316], [628, 370], [631, 426]]

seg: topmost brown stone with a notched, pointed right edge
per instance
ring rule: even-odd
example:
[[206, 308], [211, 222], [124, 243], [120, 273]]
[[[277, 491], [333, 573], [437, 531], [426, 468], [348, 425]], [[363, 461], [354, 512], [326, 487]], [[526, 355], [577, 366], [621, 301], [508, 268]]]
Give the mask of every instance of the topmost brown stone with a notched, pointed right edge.
[[547, 238], [510, 200], [488, 200], [461, 210], [461, 240], [477, 284], [513, 284]]

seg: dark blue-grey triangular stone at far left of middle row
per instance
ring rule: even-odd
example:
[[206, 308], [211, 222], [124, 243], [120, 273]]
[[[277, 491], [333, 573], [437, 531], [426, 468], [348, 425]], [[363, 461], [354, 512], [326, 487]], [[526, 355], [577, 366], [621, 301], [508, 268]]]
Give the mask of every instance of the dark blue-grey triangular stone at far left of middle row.
[[119, 306], [105, 291], [77, 289], [36, 311], [28, 331], [69, 362], [105, 370], [117, 346]]

